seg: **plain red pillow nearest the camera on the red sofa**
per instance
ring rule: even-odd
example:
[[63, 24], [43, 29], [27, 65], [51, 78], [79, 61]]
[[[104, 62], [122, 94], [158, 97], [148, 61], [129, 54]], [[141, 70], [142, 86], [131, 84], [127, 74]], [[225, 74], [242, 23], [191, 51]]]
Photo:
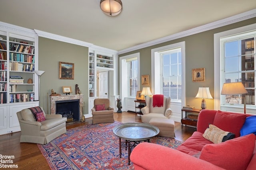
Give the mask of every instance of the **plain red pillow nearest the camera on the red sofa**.
[[254, 146], [254, 134], [230, 139], [222, 143], [207, 144], [203, 147], [199, 159], [226, 170], [244, 170], [250, 163]]

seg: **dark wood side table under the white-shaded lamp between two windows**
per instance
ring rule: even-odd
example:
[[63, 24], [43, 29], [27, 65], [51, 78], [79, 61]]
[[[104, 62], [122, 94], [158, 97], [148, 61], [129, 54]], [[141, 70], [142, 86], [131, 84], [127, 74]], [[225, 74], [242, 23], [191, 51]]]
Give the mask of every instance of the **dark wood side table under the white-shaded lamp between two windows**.
[[[185, 117], [183, 117], [183, 112], [185, 112]], [[194, 110], [189, 110], [189, 109], [181, 109], [181, 127], [184, 125], [190, 125], [196, 127], [197, 125], [197, 119], [190, 119], [188, 118], [187, 113], [200, 113], [200, 109], [194, 109]], [[198, 114], [196, 114], [194, 117], [198, 118]]]

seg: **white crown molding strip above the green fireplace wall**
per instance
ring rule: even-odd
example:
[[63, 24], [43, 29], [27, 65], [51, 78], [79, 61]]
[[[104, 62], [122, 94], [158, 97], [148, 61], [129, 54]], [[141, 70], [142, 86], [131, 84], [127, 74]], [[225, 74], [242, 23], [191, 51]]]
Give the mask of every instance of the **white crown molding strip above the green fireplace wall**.
[[65, 42], [65, 43], [81, 45], [81, 46], [84, 46], [84, 47], [90, 47], [90, 46], [93, 45], [92, 43], [87, 43], [87, 42], [80, 41], [80, 40], [77, 40], [77, 39], [72, 39], [72, 38], [61, 36], [61, 35], [56, 35], [56, 34], [53, 34], [53, 33], [40, 31], [38, 29], [34, 29], [34, 32], [38, 35], [38, 37], [54, 39], [54, 40], [62, 41], [62, 42]]

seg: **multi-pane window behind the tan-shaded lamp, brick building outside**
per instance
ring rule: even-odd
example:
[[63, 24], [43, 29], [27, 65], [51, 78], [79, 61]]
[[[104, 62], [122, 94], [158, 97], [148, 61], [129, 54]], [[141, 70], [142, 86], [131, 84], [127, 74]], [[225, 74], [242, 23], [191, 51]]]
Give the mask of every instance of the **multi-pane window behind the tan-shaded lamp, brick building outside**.
[[242, 82], [248, 94], [226, 95], [222, 104], [243, 104], [246, 98], [246, 104], [255, 105], [255, 38], [256, 31], [251, 33], [242, 33], [230, 37], [224, 37], [221, 40], [221, 55], [223, 61], [223, 83]]

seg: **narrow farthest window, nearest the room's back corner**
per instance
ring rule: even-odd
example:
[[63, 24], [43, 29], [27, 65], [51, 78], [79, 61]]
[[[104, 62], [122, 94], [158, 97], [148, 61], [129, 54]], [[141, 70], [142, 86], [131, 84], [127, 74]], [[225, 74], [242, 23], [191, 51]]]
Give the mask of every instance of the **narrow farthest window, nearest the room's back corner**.
[[128, 64], [128, 89], [129, 96], [136, 96], [138, 90], [137, 75], [138, 75], [138, 60], [137, 57], [126, 59]]

